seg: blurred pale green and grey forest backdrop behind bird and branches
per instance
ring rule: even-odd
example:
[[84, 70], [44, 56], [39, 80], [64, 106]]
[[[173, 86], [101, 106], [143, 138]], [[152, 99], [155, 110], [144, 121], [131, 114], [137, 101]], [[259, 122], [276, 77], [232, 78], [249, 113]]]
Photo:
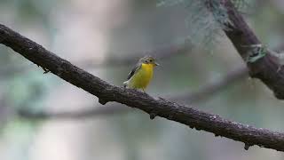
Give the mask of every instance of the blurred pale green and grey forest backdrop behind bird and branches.
[[[250, 27], [265, 45], [283, 49], [283, 1], [249, 2], [238, 7]], [[161, 67], [150, 95], [283, 132], [284, 103], [248, 78], [230, 41], [191, 7], [152, 0], [0, 0], [0, 23], [115, 85], [139, 57], [152, 54]], [[0, 52], [1, 160], [284, 158], [161, 117], [150, 120], [138, 109], [102, 106], [10, 48], [1, 45]], [[78, 112], [85, 114], [70, 114]]]

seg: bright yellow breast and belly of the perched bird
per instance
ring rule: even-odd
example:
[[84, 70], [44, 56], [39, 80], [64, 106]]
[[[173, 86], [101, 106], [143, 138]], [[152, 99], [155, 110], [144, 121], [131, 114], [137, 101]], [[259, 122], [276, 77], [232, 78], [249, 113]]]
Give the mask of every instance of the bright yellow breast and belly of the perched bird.
[[131, 88], [146, 89], [153, 77], [153, 64], [142, 63], [141, 68], [130, 79]]

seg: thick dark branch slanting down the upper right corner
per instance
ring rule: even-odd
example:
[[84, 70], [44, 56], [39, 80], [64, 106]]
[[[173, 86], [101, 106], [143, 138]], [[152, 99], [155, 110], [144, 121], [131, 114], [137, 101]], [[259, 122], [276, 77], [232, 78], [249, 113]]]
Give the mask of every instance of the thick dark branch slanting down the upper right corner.
[[[255, 62], [249, 62], [248, 58], [254, 54], [257, 55], [257, 52], [254, 51], [255, 48], [249, 46], [261, 44], [261, 42], [248, 27], [241, 13], [235, 9], [231, 0], [225, 0], [224, 6], [230, 20], [229, 24], [225, 24], [227, 26], [224, 29], [225, 34], [232, 41], [241, 58], [247, 63], [249, 75], [266, 84], [277, 99], [284, 100], [284, 69], [281, 68], [279, 60], [266, 50], [264, 57]], [[264, 46], [262, 45], [262, 47]]]

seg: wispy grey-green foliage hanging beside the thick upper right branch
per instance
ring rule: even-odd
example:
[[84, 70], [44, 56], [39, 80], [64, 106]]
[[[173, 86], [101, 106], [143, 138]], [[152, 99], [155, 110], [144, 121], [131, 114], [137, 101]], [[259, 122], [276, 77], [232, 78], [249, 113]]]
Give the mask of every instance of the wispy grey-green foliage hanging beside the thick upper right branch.
[[[232, 1], [238, 10], [248, 6], [246, 0]], [[188, 28], [187, 39], [194, 45], [211, 49], [219, 38], [224, 36], [223, 30], [230, 20], [227, 9], [220, 0], [158, 0], [157, 6], [183, 5], [187, 15], [185, 25]]]

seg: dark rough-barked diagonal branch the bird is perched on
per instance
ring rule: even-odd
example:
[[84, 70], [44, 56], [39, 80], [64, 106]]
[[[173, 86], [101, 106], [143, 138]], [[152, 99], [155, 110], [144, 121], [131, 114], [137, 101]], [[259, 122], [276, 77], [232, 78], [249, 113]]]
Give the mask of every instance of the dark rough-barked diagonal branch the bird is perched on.
[[70, 84], [74, 84], [97, 96], [101, 104], [116, 101], [131, 108], [139, 108], [148, 113], [151, 118], [161, 116], [197, 130], [213, 132], [216, 136], [242, 141], [246, 144], [246, 149], [249, 146], [258, 145], [284, 151], [283, 133], [239, 124], [162, 98], [154, 99], [143, 92], [108, 84], [99, 77], [75, 67], [69, 61], [59, 58], [54, 53], [44, 49], [43, 46], [21, 36], [4, 25], [0, 25], [0, 43], [11, 47], [12, 50], [19, 52], [28, 60], [44, 68], [44, 70], [48, 69], [51, 73]]

